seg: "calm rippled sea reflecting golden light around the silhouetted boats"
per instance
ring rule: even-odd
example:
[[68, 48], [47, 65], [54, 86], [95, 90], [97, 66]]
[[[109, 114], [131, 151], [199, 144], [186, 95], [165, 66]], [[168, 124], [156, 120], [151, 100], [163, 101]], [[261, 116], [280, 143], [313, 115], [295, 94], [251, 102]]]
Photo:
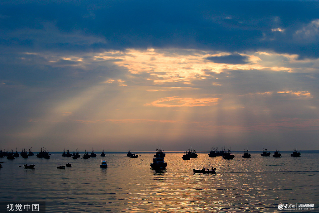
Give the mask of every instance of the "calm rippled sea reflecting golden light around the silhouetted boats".
[[[150, 167], [155, 152], [106, 153], [74, 160], [51, 152], [50, 159], [31, 156], [0, 158], [0, 198], [4, 202], [46, 202], [47, 212], [283, 212], [281, 203], [314, 203], [318, 212], [319, 151], [300, 151], [301, 157], [281, 152], [281, 158], [233, 152], [234, 160], [211, 158], [182, 160], [182, 152], [166, 152], [167, 169]], [[100, 152], [96, 152], [100, 155]], [[80, 153], [83, 156], [83, 153]], [[24, 169], [23, 164], [35, 164]], [[56, 166], [72, 164], [66, 169]], [[22, 167], [18, 167], [22, 165]], [[216, 167], [216, 174], [193, 174], [192, 169]]]

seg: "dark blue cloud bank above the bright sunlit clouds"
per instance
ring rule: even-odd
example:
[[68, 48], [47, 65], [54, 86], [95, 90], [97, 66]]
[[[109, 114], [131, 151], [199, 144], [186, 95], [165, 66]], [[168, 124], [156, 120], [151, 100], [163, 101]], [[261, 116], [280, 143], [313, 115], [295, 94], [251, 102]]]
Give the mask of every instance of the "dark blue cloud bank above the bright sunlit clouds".
[[317, 1], [5, 1], [1, 46], [266, 49], [319, 57], [318, 26], [311, 24], [319, 19], [318, 9]]

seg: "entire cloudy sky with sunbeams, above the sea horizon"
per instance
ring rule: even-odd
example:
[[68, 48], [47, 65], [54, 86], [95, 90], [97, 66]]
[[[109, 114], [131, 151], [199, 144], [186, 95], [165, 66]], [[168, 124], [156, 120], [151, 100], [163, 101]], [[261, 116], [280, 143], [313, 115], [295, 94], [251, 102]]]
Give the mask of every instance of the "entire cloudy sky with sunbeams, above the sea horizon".
[[319, 149], [318, 1], [0, 2], [0, 149]]

